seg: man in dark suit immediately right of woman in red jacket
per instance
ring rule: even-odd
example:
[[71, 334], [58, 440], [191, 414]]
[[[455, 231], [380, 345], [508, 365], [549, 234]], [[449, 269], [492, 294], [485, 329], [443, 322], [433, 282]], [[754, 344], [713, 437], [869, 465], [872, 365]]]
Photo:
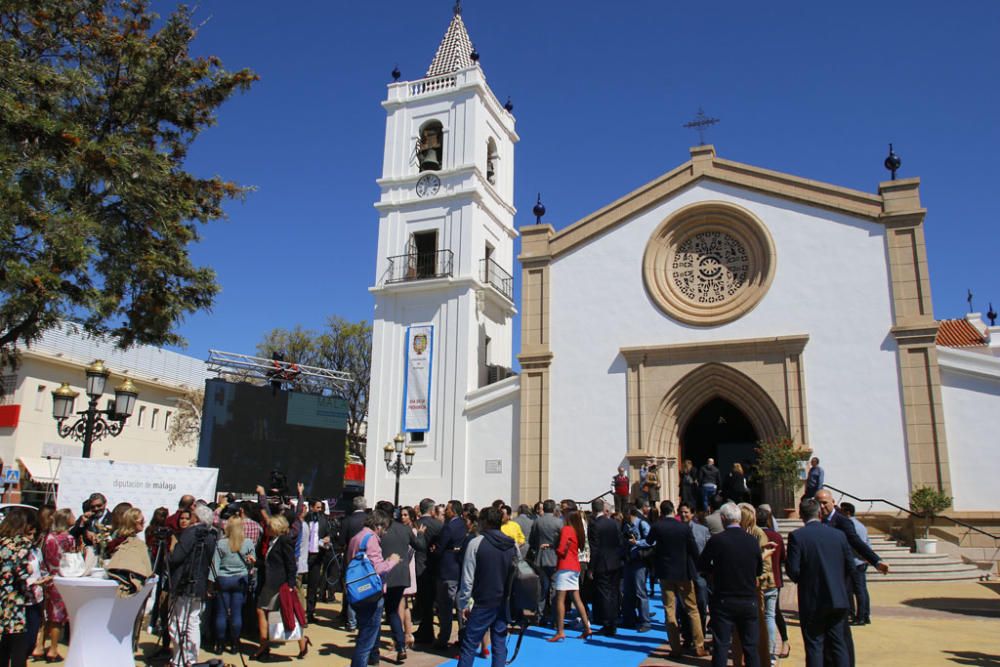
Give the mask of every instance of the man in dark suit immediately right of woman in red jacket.
[[601, 624], [598, 634], [613, 637], [618, 632], [621, 607], [621, 576], [623, 540], [618, 522], [608, 516], [603, 500], [591, 504], [594, 518], [590, 522], [590, 571], [594, 573], [594, 621]]

